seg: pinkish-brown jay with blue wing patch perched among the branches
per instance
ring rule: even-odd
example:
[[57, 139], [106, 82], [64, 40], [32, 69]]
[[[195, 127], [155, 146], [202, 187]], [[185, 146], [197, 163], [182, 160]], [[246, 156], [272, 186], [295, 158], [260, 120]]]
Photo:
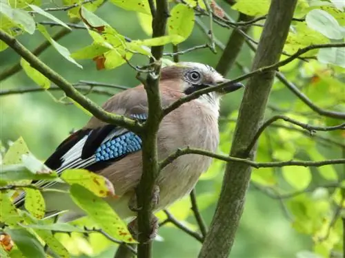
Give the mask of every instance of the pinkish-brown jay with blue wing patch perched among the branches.
[[[219, 84], [224, 85], [221, 90], [202, 94], [161, 120], [157, 133], [159, 160], [184, 147], [217, 151], [221, 96], [244, 86], [224, 78], [213, 67], [203, 63], [179, 62], [161, 69], [159, 89], [163, 108], [199, 89]], [[115, 94], [102, 107], [108, 112], [144, 122], [148, 118], [144, 85]], [[112, 183], [119, 196], [117, 199], [106, 197], [106, 201], [121, 219], [133, 218], [136, 213], [129, 204], [141, 179], [141, 142], [136, 133], [93, 116], [83, 128], [63, 140], [45, 164], [58, 175], [66, 169], [87, 169], [102, 175]], [[211, 162], [212, 158], [187, 154], [164, 167], [155, 182], [159, 201], [154, 210], [160, 211], [188, 195]], [[37, 184], [42, 185], [42, 182]], [[50, 182], [43, 186], [56, 188], [59, 184]], [[68, 187], [68, 184], [59, 185], [61, 189], [68, 190]], [[67, 193], [44, 191], [42, 194], [46, 214], [67, 211], [59, 216], [59, 222], [70, 222], [86, 215]], [[25, 193], [21, 193], [14, 204], [23, 206], [24, 200]]]

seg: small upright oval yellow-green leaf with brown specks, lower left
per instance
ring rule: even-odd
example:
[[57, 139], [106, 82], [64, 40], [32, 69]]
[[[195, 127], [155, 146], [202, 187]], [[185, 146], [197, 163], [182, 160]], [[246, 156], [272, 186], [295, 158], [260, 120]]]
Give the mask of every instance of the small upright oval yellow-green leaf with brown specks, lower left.
[[46, 203], [44, 202], [43, 196], [39, 190], [35, 189], [25, 189], [26, 198], [25, 198], [25, 208], [29, 211], [34, 217], [42, 219], [46, 213]]

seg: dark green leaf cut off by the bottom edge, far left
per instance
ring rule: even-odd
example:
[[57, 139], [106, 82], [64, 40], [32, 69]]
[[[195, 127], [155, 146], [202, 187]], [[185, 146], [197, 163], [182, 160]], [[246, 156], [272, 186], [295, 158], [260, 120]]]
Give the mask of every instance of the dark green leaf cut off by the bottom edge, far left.
[[46, 258], [43, 246], [41, 246], [39, 240], [32, 233], [28, 232], [28, 230], [6, 228], [5, 231], [11, 236], [14, 244], [18, 246], [25, 257]]

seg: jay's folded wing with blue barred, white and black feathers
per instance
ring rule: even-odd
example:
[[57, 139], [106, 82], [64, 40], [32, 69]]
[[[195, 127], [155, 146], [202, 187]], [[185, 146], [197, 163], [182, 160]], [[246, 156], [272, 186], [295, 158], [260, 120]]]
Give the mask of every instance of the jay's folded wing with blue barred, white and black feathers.
[[[147, 115], [131, 114], [130, 118], [144, 122]], [[88, 169], [99, 171], [121, 160], [130, 153], [141, 150], [141, 138], [132, 131], [116, 125], [101, 125], [96, 128], [84, 128], [72, 133], [63, 140], [45, 164], [61, 175], [66, 169]], [[39, 180], [34, 182], [39, 187], [51, 187], [57, 182]], [[14, 204], [21, 206], [25, 193], [21, 193]]]

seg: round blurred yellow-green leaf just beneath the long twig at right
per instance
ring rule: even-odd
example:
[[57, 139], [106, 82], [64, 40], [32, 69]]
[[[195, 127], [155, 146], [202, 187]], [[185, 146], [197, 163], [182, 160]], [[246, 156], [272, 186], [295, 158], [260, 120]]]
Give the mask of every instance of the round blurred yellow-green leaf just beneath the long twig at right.
[[295, 189], [306, 189], [311, 183], [311, 171], [304, 166], [283, 166], [283, 177]]

